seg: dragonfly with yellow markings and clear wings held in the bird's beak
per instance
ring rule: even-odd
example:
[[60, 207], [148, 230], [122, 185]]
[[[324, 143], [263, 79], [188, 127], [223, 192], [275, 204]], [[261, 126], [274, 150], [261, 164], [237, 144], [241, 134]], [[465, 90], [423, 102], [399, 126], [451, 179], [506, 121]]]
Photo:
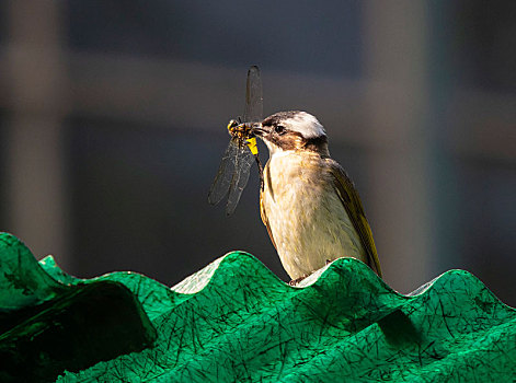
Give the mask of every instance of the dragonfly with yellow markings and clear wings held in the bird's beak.
[[227, 126], [231, 140], [222, 155], [217, 175], [208, 194], [208, 202], [217, 205], [229, 193], [226, 214], [231, 216], [237, 208], [249, 181], [253, 162], [256, 162], [260, 184], [263, 188], [263, 167], [260, 162], [254, 126], [263, 119], [262, 79], [260, 69], [252, 66], [248, 71], [245, 107], [242, 118], [231, 119]]

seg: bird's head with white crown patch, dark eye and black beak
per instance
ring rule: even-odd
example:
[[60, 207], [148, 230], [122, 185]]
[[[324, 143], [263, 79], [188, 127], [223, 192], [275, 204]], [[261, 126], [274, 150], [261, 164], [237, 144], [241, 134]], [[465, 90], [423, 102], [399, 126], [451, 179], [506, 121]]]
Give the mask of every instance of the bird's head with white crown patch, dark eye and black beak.
[[307, 112], [278, 112], [253, 129], [268, 148], [271, 155], [286, 151], [311, 151], [329, 156], [323, 126]]

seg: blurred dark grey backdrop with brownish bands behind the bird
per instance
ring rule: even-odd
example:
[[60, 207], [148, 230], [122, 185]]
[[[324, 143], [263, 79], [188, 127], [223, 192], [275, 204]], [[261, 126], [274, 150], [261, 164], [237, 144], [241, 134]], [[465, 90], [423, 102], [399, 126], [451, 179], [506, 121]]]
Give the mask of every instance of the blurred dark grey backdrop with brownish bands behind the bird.
[[172, 286], [245, 249], [288, 280], [255, 169], [234, 216], [207, 204], [257, 65], [265, 115], [325, 126], [391, 287], [462, 268], [516, 305], [514, 2], [5, 0], [0, 18], [0, 230], [38, 258]]

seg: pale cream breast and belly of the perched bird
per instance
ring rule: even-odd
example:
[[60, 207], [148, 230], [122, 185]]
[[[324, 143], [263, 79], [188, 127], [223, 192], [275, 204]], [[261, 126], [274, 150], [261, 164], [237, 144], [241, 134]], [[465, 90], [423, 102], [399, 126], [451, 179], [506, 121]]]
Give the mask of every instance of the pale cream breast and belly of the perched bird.
[[319, 155], [274, 155], [264, 178], [263, 208], [290, 277], [310, 274], [325, 259], [360, 257], [358, 235]]

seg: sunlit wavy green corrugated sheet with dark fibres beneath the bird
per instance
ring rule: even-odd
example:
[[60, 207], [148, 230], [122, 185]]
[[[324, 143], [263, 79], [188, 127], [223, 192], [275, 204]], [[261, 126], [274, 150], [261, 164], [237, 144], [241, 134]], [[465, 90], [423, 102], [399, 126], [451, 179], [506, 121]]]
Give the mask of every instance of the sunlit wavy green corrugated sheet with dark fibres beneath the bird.
[[[53, 288], [35, 300], [84, 282], [62, 274], [50, 257], [39, 264], [39, 278]], [[516, 379], [516, 312], [462, 270], [406, 297], [360, 262], [337, 259], [294, 288], [253, 256], [234, 252], [172, 290], [130, 272], [88, 283], [106, 280], [136, 294], [158, 338], [153, 347], [66, 372], [58, 382]], [[11, 306], [15, 301], [5, 299]]]

